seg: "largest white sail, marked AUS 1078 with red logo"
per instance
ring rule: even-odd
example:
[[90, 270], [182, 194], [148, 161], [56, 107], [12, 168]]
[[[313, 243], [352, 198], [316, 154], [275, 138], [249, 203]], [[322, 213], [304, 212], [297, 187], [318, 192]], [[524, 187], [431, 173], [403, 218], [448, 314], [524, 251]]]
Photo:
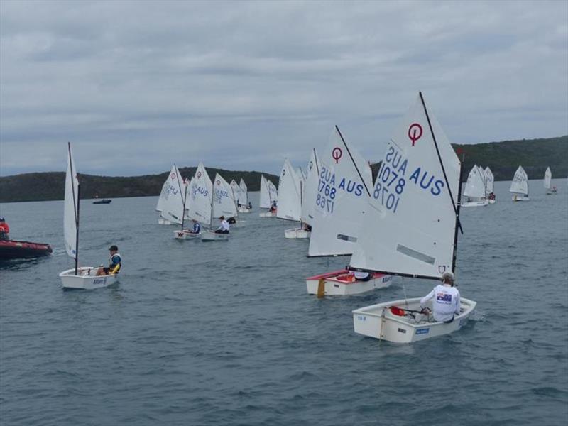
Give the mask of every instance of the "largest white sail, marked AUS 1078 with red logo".
[[420, 94], [388, 142], [351, 266], [421, 278], [452, 271], [459, 173]]

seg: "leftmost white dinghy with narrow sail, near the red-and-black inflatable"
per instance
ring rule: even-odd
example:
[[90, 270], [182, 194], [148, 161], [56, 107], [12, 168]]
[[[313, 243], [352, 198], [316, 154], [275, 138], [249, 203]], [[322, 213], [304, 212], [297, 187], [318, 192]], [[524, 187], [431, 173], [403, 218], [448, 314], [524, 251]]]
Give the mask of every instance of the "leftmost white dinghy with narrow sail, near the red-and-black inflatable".
[[67, 143], [67, 173], [65, 173], [65, 202], [63, 207], [63, 233], [65, 251], [75, 259], [75, 268], [59, 274], [63, 288], [94, 289], [107, 287], [116, 282], [118, 271], [109, 275], [97, 276], [97, 266], [79, 265], [79, 207], [80, 185], [77, 169], [71, 152], [71, 143]]

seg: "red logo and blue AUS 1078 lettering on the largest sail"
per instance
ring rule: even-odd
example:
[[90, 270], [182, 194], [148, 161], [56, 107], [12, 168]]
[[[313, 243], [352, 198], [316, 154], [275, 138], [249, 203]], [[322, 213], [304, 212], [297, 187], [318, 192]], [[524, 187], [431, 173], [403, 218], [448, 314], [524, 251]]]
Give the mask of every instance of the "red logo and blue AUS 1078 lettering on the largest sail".
[[[418, 123], [408, 127], [408, 141], [410, 141], [410, 158], [420, 162], [420, 155], [412, 150], [417, 148], [416, 142], [422, 138], [422, 126]], [[420, 151], [420, 150], [419, 150]], [[400, 199], [403, 197], [405, 187], [415, 185], [420, 190], [427, 191], [431, 196], [438, 197], [442, 194], [444, 180], [422, 165], [409, 166], [409, 160], [400, 151], [395, 143], [389, 142], [385, 158], [381, 164], [381, 170], [373, 188], [373, 198], [393, 213], [396, 213]]]

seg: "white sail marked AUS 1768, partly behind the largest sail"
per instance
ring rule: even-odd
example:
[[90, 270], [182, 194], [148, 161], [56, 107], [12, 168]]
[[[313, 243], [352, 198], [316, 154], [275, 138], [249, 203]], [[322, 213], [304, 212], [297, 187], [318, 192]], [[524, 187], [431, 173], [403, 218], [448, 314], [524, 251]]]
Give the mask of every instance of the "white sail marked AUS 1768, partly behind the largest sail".
[[353, 253], [372, 182], [368, 163], [336, 126], [321, 158], [308, 256]]

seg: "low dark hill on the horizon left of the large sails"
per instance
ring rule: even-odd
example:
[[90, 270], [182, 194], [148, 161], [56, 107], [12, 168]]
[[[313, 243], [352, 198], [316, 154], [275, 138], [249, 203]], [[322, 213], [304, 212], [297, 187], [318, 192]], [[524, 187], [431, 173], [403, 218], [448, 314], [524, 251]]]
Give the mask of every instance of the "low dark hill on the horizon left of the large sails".
[[[195, 175], [196, 167], [180, 168], [182, 176]], [[79, 173], [81, 198], [117, 198], [145, 197], [159, 195], [168, 172], [159, 175], [142, 175], [129, 177], [94, 176]], [[213, 180], [219, 173], [231, 182], [239, 182], [243, 178], [249, 191], [258, 191], [261, 185], [261, 174], [278, 185], [278, 176], [260, 172], [235, 172], [216, 168], [207, 168], [207, 174]], [[65, 173], [45, 172], [26, 173], [0, 178], [0, 202], [47, 201], [62, 200], [65, 192]]]

